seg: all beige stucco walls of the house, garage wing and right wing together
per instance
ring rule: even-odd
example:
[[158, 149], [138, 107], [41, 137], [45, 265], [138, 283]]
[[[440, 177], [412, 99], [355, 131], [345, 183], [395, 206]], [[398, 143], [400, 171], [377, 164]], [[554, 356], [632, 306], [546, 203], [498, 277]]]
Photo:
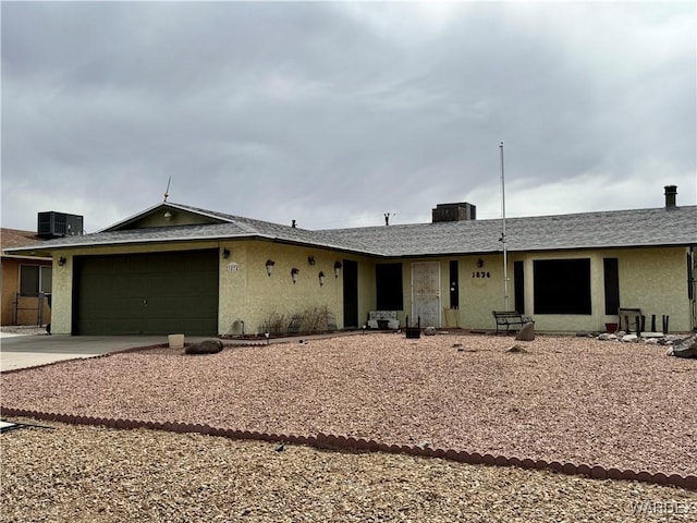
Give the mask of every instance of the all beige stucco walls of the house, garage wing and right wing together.
[[[293, 246], [266, 241], [197, 242], [182, 245], [143, 245], [125, 247], [102, 247], [96, 250], [62, 251], [68, 263], [53, 266], [52, 331], [70, 333], [72, 324], [72, 279], [73, 256], [83, 254], [148, 253], [192, 248], [228, 248], [228, 259], [220, 258], [219, 278], [219, 333], [224, 333], [235, 321], [242, 320], [245, 332], [256, 333], [271, 315], [283, 315], [290, 321], [293, 314], [315, 307], [327, 307], [335, 316], [339, 328], [343, 327], [343, 278], [334, 278], [337, 260], [354, 259], [358, 264], [358, 325], [363, 325], [369, 311], [376, 308], [375, 265], [376, 263], [403, 264], [404, 309], [399, 319], [404, 325], [405, 316], [412, 311], [411, 266], [413, 262], [437, 262], [440, 267], [441, 326], [454, 325], [465, 329], [493, 329], [491, 311], [504, 308], [502, 255], [453, 256], [424, 259], [379, 259], [347, 256], [321, 248]], [[693, 326], [689, 318], [689, 302], [686, 289], [685, 248], [636, 248], [613, 251], [575, 251], [553, 253], [512, 253], [509, 255], [509, 308], [514, 308], [514, 273], [516, 260], [524, 262], [525, 314], [534, 316], [540, 332], [573, 332], [578, 330], [601, 330], [606, 323], [616, 321], [616, 317], [604, 314], [603, 258], [619, 258], [620, 296], [624, 307], [640, 307], [647, 316], [670, 315], [671, 331], [688, 331]], [[314, 256], [315, 265], [308, 264]], [[266, 260], [276, 265], [269, 277]], [[533, 303], [534, 270], [536, 259], [589, 258], [591, 271], [592, 311], [590, 315], [536, 315]], [[54, 256], [58, 259], [58, 255]], [[460, 308], [445, 312], [449, 306], [449, 263], [458, 262]], [[477, 267], [481, 259], [482, 266]], [[237, 270], [228, 270], [228, 265], [236, 264]], [[297, 283], [291, 279], [291, 268], [299, 270]], [[326, 276], [325, 285], [319, 285], [319, 271]], [[479, 276], [477, 275], [479, 273]], [[445, 323], [448, 320], [448, 324]], [[237, 332], [234, 332], [237, 333]]]

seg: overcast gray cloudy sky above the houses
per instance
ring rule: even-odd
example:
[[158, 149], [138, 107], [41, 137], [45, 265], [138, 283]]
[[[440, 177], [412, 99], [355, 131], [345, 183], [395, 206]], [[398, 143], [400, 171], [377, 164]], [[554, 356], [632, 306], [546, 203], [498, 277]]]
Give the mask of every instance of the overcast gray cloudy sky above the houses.
[[695, 205], [696, 5], [3, 1], [2, 227]]

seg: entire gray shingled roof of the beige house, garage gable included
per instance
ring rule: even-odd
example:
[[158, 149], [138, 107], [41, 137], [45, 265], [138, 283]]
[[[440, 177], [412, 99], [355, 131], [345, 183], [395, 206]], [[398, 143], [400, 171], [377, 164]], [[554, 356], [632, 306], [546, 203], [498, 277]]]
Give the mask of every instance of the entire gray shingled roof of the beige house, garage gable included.
[[[485, 254], [503, 248], [501, 219], [310, 231], [181, 204], [164, 205], [220, 222], [144, 229], [119, 229], [117, 224], [101, 232], [51, 240], [35, 247], [46, 252], [97, 245], [258, 238], [383, 257]], [[697, 206], [509, 218], [506, 239], [510, 252], [697, 245]], [[32, 246], [20, 250], [26, 252]]]

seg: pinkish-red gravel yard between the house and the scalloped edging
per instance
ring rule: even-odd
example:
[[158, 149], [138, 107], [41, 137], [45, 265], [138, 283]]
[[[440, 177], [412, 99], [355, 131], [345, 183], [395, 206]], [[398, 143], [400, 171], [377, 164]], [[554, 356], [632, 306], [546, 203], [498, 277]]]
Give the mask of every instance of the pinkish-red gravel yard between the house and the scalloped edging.
[[513, 344], [381, 333], [157, 349], [4, 374], [2, 405], [697, 474], [695, 361], [587, 338]]

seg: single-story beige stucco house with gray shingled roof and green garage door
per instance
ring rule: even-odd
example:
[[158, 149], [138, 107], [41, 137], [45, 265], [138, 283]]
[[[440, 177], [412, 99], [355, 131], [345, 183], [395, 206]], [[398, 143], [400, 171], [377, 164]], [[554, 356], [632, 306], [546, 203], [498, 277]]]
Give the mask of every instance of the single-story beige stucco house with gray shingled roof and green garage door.
[[574, 332], [604, 330], [619, 307], [684, 332], [697, 206], [665, 190], [661, 208], [508, 219], [505, 242], [469, 204], [438, 205], [431, 223], [310, 231], [164, 202], [12, 253], [52, 256], [56, 333], [256, 333], [318, 311], [340, 329], [396, 311], [402, 326], [491, 330], [504, 308]]

